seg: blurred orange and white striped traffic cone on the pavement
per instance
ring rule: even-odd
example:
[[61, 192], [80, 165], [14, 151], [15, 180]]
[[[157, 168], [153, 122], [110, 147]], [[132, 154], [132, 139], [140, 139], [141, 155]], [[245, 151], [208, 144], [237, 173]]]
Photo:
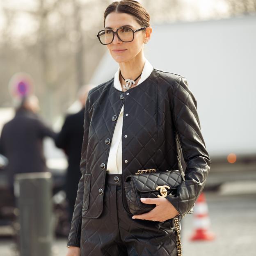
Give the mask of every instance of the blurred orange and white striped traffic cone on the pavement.
[[208, 215], [208, 206], [203, 193], [199, 195], [193, 209], [195, 231], [191, 236], [190, 241], [215, 239], [215, 234], [208, 231], [210, 228], [210, 218]]

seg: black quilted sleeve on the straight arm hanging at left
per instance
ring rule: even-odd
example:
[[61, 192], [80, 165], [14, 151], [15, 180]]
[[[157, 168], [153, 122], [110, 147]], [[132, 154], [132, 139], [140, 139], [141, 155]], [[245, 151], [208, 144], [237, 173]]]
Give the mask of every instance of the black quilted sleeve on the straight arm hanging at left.
[[83, 203], [83, 194], [84, 194], [84, 186], [85, 186], [85, 168], [86, 168], [86, 154], [87, 154], [87, 146], [88, 146], [88, 134], [89, 134], [89, 126], [91, 120], [91, 112], [92, 107], [90, 106], [89, 94], [87, 96], [87, 100], [85, 103], [85, 120], [84, 120], [84, 136], [82, 142], [82, 152], [81, 152], [81, 161], [80, 161], [80, 171], [82, 176], [78, 183], [78, 191], [75, 200], [74, 212], [71, 221], [71, 229], [69, 232], [69, 237], [67, 241], [67, 246], [75, 246], [80, 247], [80, 235], [81, 235], [81, 224], [82, 224], [82, 203]]

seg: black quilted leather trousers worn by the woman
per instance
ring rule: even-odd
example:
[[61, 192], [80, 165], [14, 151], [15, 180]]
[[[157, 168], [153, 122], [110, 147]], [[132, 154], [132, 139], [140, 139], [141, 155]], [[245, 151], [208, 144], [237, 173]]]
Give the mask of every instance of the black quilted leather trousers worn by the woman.
[[121, 174], [106, 174], [103, 213], [82, 217], [81, 256], [177, 256], [173, 219], [132, 219], [123, 208]]

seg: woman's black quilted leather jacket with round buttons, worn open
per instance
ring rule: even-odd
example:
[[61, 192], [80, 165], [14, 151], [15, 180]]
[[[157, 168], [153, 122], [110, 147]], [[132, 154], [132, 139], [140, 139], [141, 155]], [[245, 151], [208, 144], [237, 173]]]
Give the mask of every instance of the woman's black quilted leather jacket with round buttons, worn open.
[[[153, 69], [146, 80], [126, 92], [117, 90], [112, 78], [91, 89], [87, 97], [82, 177], [67, 245], [80, 247], [82, 217], [98, 218], [103, 211], [107, 159], [123, 104], [122, 189], [127, 211], [123, 182], [137, 170], [182, 172], [185, 181], [179, 185], [177, 196], [166, 197], [178, 210], [179, 220], [194, 206], [206, 183], [211, 162], [201, 133], [197, 101], [186, 78]], [[181, 153], [187, 164], [185, 175]]]

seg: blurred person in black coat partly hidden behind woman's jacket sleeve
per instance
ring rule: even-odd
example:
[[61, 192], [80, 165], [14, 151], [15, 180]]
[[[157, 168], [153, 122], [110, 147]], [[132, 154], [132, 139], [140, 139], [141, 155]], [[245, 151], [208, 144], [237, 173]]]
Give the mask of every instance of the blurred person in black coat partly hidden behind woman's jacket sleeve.
[[84, 85], [78, 91], [78, 99], [81, 103], [81, 109], [75, 114], [66, 115], [62, 129], [55, 138], [56, 146], [64, 150], [69, 162], [65, 182], [66, 199], [69, 203], [69, 223], [71, 223], [76, 193], [78, 190], [78, 182], [81, 178], [80, 160], [84, 135], [83, 124], [85, 116], [85, 102], [88, 91], [92, 87], [94, 86]]

